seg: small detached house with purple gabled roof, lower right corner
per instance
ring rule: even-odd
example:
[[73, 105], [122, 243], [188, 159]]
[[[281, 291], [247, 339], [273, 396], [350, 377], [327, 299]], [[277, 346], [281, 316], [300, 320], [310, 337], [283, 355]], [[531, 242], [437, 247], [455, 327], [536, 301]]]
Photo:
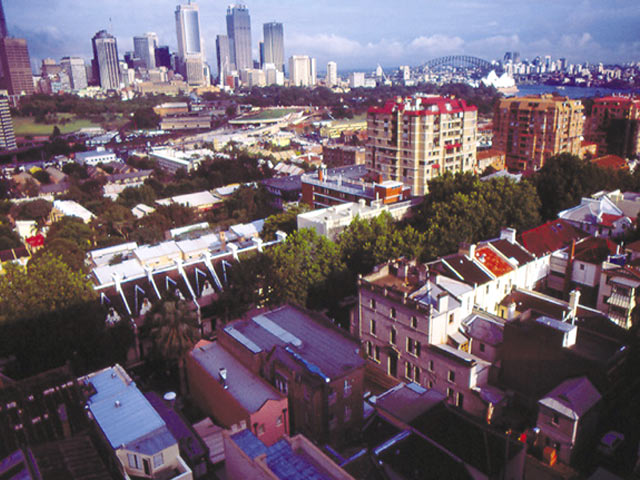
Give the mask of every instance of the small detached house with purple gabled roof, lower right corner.
[[595, 436], [601, 398], [587, 377], [577, 377], [538, 400], [539, 441], [553, 447], [561, 462], [573, 463]]

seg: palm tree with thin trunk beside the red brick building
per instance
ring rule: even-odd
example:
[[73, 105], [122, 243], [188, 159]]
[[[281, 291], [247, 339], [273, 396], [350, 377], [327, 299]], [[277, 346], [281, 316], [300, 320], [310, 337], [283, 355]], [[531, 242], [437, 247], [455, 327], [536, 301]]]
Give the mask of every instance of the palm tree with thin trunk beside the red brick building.
[[163, 359], [178, 364], [180, 391], [185, 393], [184, 360], [200, 338], [196, 312], [185, 300], [164, 301], [151, 317], [151, 335]]

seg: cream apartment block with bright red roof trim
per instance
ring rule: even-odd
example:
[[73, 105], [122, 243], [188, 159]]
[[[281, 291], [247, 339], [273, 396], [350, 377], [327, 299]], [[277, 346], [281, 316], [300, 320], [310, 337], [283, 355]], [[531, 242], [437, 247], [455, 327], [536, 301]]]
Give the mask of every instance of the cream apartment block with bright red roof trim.
[[432, 178], [476, 167], [477, 120], [477, 107], [439, 96], [398, 97], [371, 107], [367, 169], [424, 195]]

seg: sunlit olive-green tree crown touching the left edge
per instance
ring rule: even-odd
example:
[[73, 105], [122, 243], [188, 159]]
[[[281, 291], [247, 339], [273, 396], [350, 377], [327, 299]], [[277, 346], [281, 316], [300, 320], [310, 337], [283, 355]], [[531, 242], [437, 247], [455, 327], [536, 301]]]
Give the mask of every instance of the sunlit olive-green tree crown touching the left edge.
[[0, 323], [37, 317], [95, 298], [83, 274], [50, 254], [29, 262], [26, 269], [9, 263], [0, 275]]

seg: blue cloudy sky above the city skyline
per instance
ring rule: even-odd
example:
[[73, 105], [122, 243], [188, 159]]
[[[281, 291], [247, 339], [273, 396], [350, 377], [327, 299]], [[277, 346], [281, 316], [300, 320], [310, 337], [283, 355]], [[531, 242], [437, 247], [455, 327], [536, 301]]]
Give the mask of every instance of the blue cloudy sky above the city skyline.
[[[91, 37], [116, 36], [118, 52], [153, 31], [176, 49], [176, 0], [2, 0], [9, 34], [27, 39], [32, 63], [91, 57]], [[183, 0], [186, 3], [186, 0]], [[200, 0], [205, 52], [215, 71], [215, 37], [227, 3]], [[339, 71], [418, 66], [449, 54], [500, 59], [565, 57], [570, 63], [640, 61], [638, 0], [247, 0], [254, 58], [262, 25], [284, 24], [285, 55], [329, 60]]]

